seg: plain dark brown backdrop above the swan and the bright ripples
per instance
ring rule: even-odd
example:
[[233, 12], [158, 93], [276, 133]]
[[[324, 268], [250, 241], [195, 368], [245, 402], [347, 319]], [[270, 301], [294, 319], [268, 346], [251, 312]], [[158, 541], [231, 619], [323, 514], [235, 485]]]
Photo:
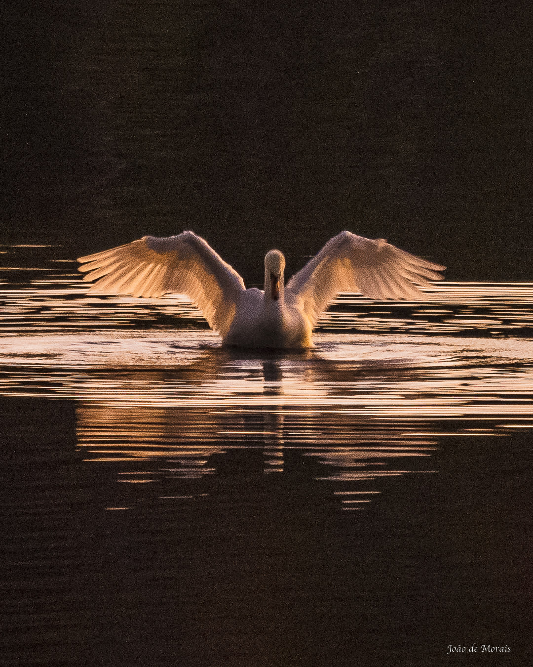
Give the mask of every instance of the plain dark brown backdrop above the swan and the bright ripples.
[[530, 280], [526, 1], [3, 5], [4, 242], [193, 229], [248, 281], [342, 229]]

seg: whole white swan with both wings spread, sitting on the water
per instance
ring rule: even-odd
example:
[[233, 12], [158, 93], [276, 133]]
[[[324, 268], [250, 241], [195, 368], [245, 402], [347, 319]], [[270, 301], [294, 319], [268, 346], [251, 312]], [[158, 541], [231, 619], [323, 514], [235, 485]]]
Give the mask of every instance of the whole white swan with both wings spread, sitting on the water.
[[[371, 299], [422, 299], [417, 285], [440, 280], [445, 267], [410, 255], [384, 239], [341, 231], [288, 283], [279, 250], [265, 256], [265, 290], [246, 289], [239, 273], [192, 231], [142, 239], [79, 257], [89, 292], [160, 297], [184, 293], [196, 303], [223, 346], [302, 349], [340, 291]], [[416, 284], [415, 284], [416, 283]]]

